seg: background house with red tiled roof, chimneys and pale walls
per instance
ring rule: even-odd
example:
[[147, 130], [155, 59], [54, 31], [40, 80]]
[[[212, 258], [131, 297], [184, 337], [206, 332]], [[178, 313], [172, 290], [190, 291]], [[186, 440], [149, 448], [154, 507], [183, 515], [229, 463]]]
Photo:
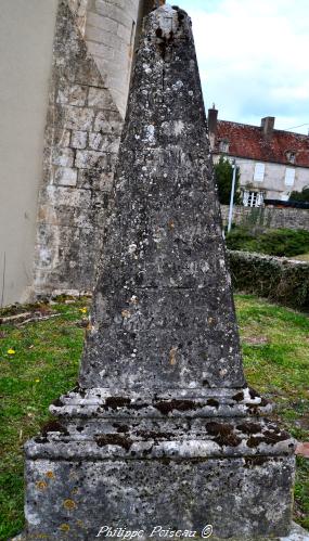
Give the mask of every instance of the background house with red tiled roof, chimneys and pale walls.
[[287, 201], [292, 191], [309, 185], [309, 137], [274, 129], [274, 117], [260, 126], [218, 119], [208, 110], [214, 162], [221, 155], [236, 160], [243, 204], [258, 207], [265, 198]]

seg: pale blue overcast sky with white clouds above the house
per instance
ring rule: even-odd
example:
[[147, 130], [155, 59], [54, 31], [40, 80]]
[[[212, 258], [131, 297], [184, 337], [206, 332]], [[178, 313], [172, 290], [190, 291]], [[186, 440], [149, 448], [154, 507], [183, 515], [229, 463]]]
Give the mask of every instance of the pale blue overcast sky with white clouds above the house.
[[[169, 1], [168, 3], [172, 3]], [[205, 106], [308, 133], [309, 0], [179, 0], [192, 17]]]

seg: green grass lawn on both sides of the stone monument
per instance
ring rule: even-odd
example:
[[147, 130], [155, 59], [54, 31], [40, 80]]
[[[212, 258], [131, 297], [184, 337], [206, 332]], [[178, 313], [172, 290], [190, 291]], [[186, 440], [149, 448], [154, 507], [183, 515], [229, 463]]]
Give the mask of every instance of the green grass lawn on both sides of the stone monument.
[[[309, 441], [309, 318], [249, 295], [235, 300], [249, 385]], [[0, 540], [23, 529], [23, 443], [46, 423], [49, 404], [76, 385], [87, 302], [51, 306], [59, 317], [47, 321], [0, 326]], [[295, 520], [309, 528], [309, 460], [298, 458], [297, 466]]]

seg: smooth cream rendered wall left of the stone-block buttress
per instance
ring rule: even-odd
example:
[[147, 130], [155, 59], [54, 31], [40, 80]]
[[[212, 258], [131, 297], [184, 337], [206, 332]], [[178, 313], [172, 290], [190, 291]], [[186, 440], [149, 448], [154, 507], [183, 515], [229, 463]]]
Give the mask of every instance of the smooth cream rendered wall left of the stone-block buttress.
[[[57, 0], [1, 0], [0, 302], [33, 284], [37, 195]], [[5, 257], [5, 274], [4, 274]]]

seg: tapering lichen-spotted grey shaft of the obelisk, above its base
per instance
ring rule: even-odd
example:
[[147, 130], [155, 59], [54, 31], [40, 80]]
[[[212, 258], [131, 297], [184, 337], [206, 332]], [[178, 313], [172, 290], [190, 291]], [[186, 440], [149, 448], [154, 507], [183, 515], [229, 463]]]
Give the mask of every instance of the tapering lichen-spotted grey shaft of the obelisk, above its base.
[[244, 385], [190, 18], [145, 21], [94, 293], [83, 387]]

